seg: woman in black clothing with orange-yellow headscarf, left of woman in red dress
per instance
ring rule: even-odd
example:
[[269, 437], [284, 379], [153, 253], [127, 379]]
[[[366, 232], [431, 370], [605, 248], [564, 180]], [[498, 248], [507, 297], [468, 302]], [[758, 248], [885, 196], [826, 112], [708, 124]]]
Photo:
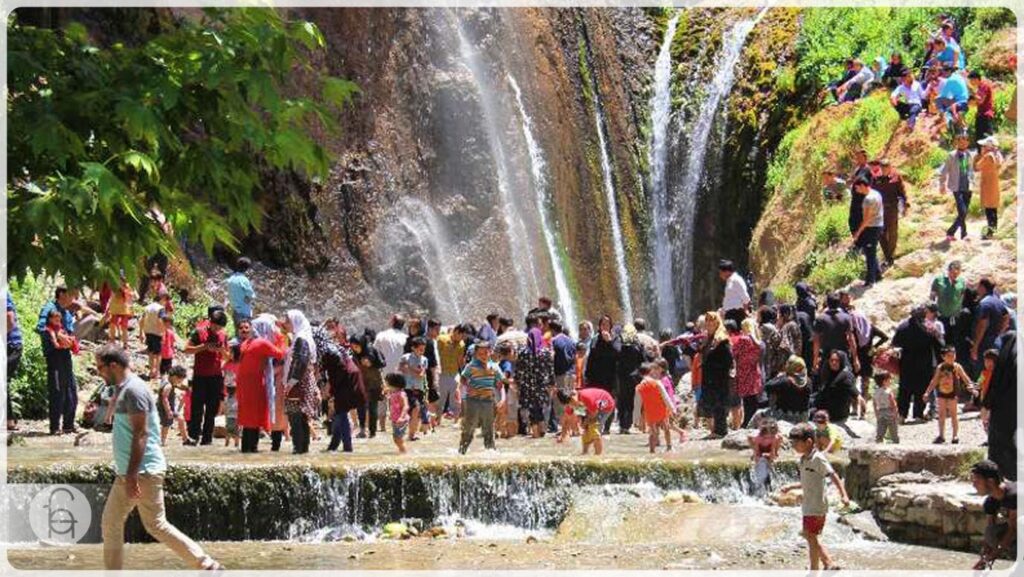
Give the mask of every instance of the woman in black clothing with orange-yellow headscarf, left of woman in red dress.
[[701, 413], [713, 419], [712, 438], [725, 437], [729, 431], [726, 416], [729, 409], [729, 380], [732, 370], [732, 347], [729, 334], [717, 312], [705, 314], [708, 336], [700, 346], [700, 405]]

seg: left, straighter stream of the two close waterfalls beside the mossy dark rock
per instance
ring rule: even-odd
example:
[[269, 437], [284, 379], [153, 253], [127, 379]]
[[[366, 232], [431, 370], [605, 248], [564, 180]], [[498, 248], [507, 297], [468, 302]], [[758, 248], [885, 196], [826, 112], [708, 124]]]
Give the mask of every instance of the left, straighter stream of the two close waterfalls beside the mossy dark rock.
[[654, 63], [654, 94], [650, 99], [651, 145], [649, 153], [651, 203], [654, 223], [654, 289], [657, 296], [657, 321], [662, 329], [675, 326], [677, 321], [675, 275], [672, 267], [672, 246], [669, 240], [669, 199], [666, 182], [667, 142], [672, 116], [672, 39], [682, 11], [669, 20], [662, 49]]

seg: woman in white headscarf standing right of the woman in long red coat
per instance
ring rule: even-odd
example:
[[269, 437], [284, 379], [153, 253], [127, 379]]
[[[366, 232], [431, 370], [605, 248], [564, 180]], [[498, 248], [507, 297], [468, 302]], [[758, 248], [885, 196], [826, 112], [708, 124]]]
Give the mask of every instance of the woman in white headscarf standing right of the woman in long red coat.
[[301, 311], [286, 314], [284, 329], [292, 335], [285, 358], [285, 413], [292, 427], [292, 452], [309, 452], [309, 420], [319, 413], [316, 388], [316, 344], [312, 327]]

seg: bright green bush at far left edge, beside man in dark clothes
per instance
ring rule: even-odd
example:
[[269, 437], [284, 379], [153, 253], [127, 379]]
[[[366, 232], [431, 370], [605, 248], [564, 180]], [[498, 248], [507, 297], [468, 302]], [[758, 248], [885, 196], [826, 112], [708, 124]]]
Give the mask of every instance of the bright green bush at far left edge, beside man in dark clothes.
[[37, 419], [46, 416], [46, 361], [43, 346], [36, 334], [39, 311], [52, 297], [51, 284], [43, 277], [26, 275], [22, 281], [10, 281], [10, 296], [17, 312], [18, 326], [22, 328], [22, 367], [17, 375], [9, 380], [14, 416]]

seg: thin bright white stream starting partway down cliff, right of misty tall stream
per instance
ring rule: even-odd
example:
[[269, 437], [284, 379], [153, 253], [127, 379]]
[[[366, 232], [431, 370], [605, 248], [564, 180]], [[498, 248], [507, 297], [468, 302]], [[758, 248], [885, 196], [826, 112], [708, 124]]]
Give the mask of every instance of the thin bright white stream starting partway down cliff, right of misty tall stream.
[[526, 114], [526, 107], [522, 104], [522, 92], [515, 78], [508, 75], [509, 84], [515, 92], [515, 102], [519, 107], [519, 114], [522, 116], [522, 135], [526, 139], [526, 148], [529, 151], [529, 167], [534, 175], [534, 198], [537, 200], [537, 212], [541, 217], [541, 229], [544, 231], [544, 242], [548, 248], [548, 256], [551, 257], [551, 267], [555, 274], [555, 291], [558, 296], [558, 306], [562, 313], [564, 327], [574, 333], [577, 329], [575, 302], [572, 299], [572, 291], [569, 289], [568, 280], [565, 278], [565, 267], [568, 265], [561, 259], [556, 239], [557, 230], [548, 223], [548, 204], [550, 202], [548, 190], [548, 176], [546, 174], [547, 163], [544, 161], [544, 152], [540, 143], [534, 137], [534, 123]]

